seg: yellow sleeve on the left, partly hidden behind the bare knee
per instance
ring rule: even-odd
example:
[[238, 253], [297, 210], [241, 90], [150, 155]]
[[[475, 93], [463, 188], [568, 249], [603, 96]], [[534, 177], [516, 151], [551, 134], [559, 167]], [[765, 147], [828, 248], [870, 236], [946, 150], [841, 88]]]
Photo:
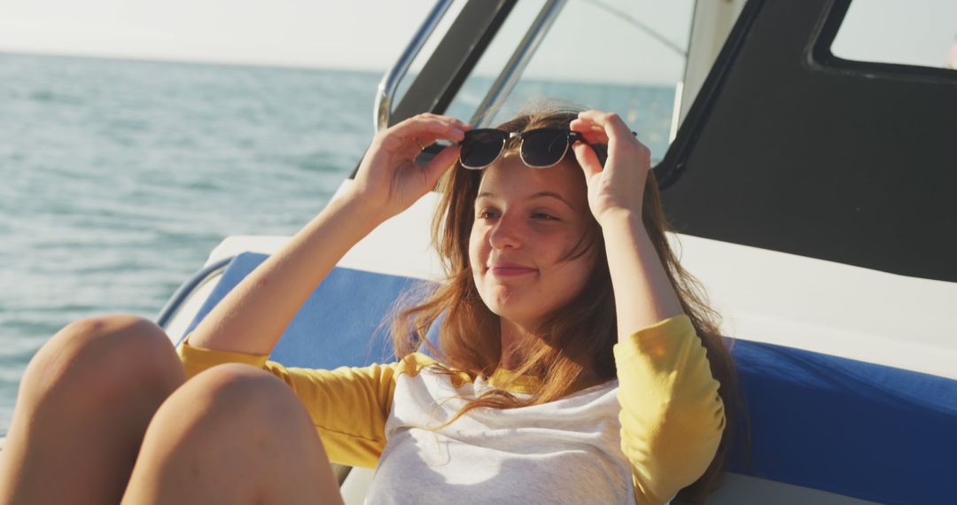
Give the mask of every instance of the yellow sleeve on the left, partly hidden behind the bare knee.
[[217, 364], [241, 362], [262, 368], [289, 384], [309, 412], [329, 460], [350, 467], [373, 468], [386, 447], [386, 419], [395, 391], [395, 377], [414, 357], [389, 364], [318, 370], [285, 367], [267, 356], [177, 347], [187, 376]]

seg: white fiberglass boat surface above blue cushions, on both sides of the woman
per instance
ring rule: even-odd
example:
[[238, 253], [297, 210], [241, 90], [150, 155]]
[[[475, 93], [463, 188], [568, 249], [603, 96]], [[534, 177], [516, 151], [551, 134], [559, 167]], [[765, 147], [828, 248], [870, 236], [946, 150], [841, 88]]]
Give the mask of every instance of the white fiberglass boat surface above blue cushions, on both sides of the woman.
[[[338, 194], [351, 184], [345, 181]], [[441, 277], [429, 230], [438, 194], [422, 198], [360, 242], [340, 266]], [[765, 341], [957, 379], [957, 283], [887, 274], [831, 261], [673, 234], [729, 337]], [[230, 237], [210, 262], [276, 251], [288, 237]]]

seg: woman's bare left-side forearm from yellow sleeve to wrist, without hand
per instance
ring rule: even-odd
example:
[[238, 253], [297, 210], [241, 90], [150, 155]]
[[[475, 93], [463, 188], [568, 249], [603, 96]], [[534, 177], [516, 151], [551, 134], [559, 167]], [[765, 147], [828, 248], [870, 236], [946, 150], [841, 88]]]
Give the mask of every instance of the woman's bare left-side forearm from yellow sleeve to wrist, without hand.
[[346, 251], [382, 221], [344, 195], [247, 275], [189, 337], [190, 345], [270, 354], [305, 300]]

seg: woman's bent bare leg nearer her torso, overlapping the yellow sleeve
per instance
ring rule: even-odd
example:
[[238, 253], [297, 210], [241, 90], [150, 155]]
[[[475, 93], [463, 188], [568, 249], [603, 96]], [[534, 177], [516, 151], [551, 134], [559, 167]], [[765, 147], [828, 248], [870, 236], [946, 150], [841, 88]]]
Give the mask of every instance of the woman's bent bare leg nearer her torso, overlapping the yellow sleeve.
[[207, 370], [160, 407], [123, 503], [334, 503], [339, 484], [299, 398], [244, 364]]

